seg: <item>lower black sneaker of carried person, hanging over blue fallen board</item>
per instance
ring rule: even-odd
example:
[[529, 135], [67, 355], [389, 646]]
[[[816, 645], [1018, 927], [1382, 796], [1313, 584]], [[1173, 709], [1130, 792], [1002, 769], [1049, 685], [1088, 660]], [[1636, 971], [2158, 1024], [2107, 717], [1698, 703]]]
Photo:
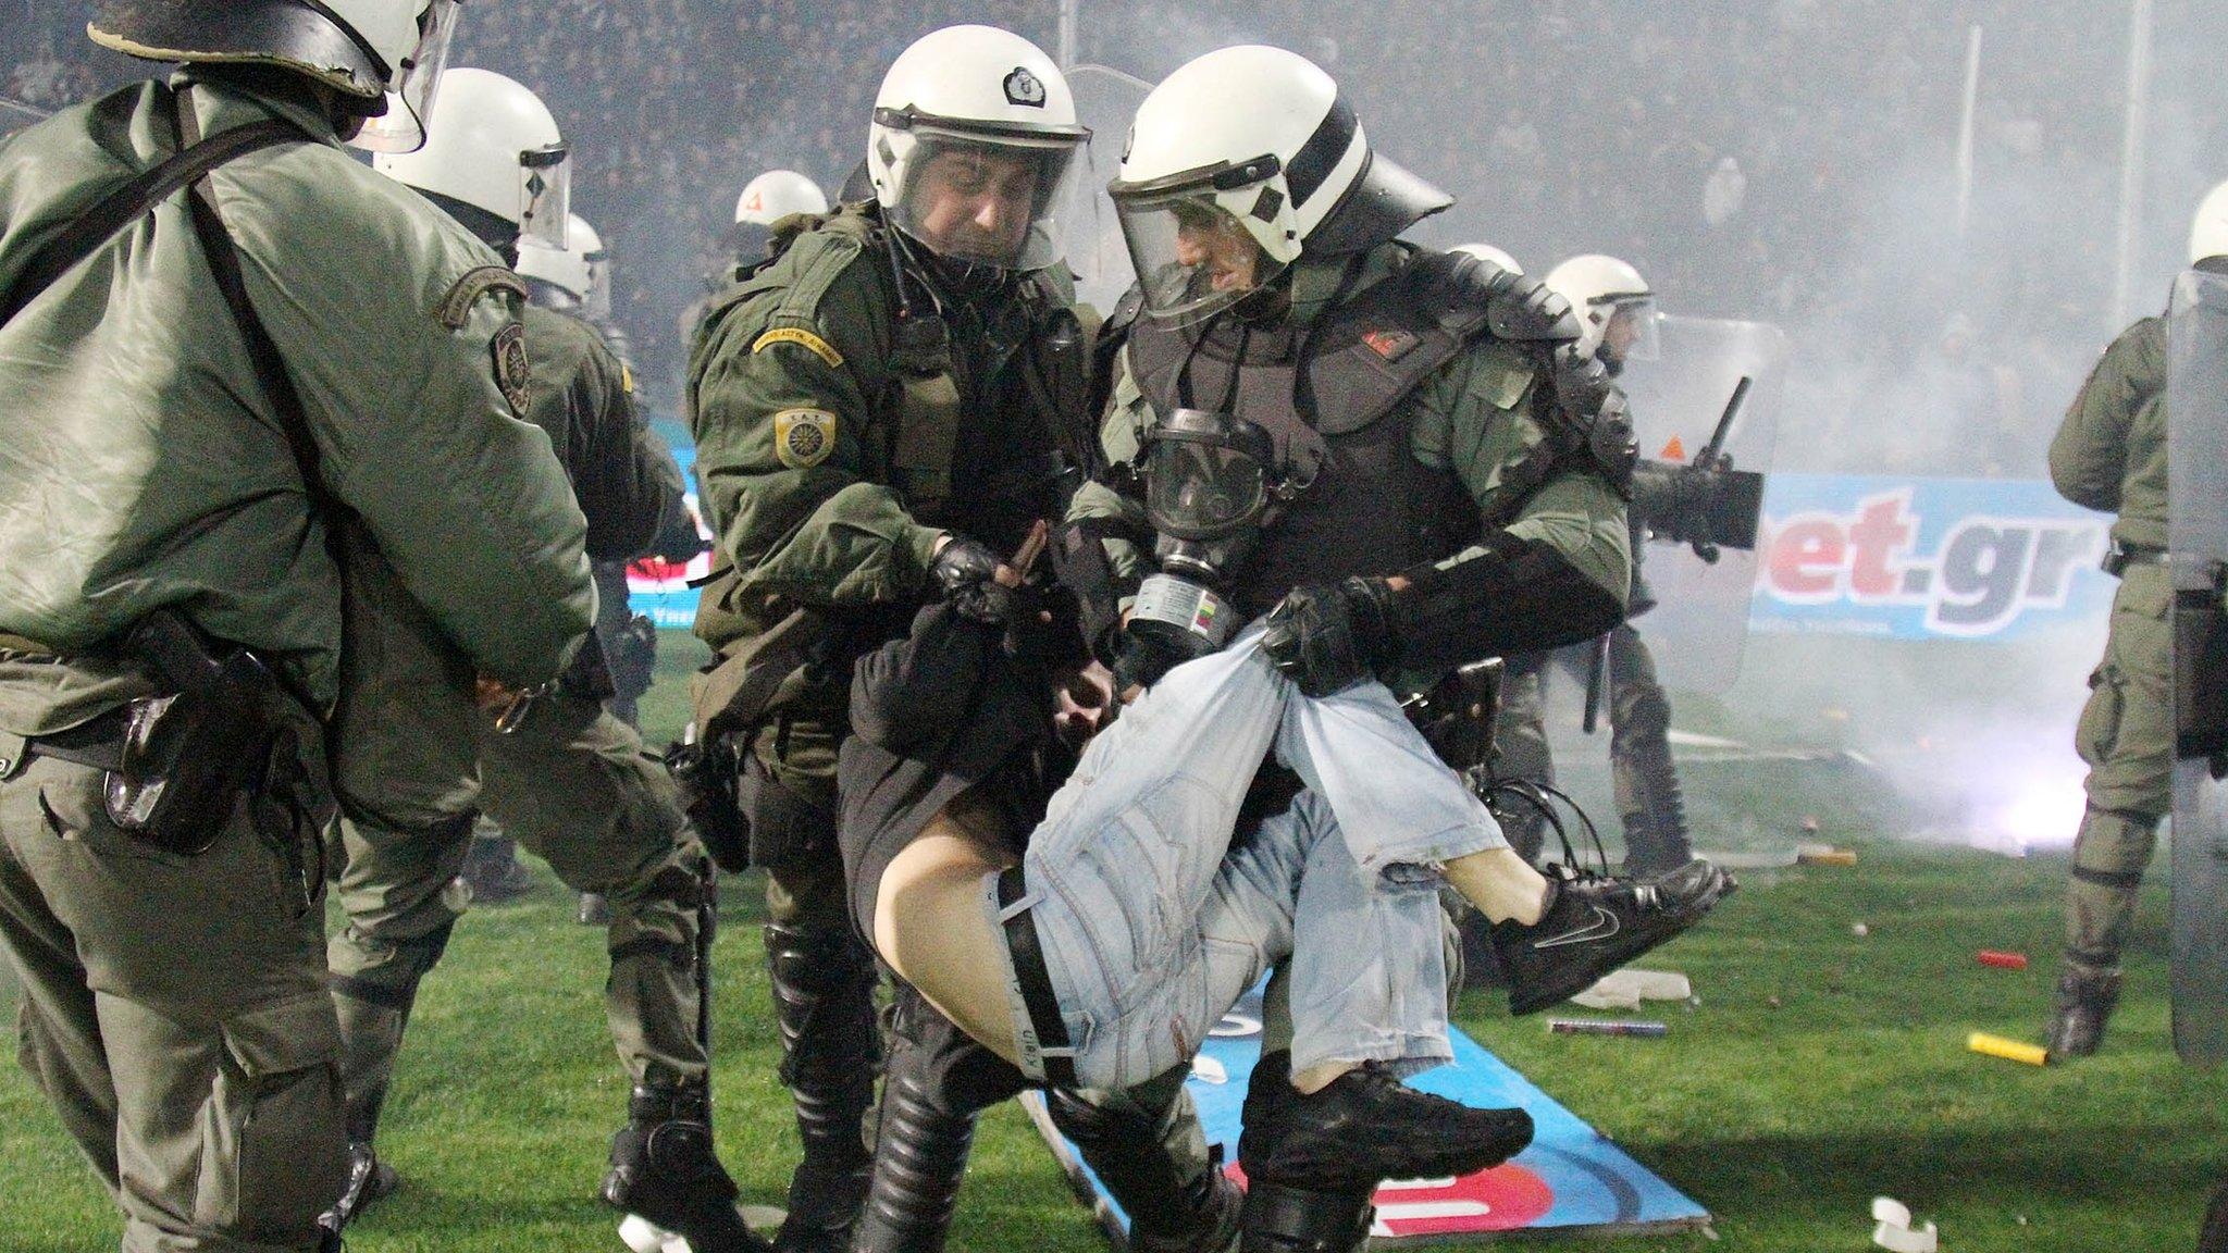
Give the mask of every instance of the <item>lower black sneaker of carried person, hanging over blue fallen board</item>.
[[1479, 1110], [1419, 1092], [1390, 1070], [1364, 1063], [1312, 1097], [1290, 1095], [1261, 1179], [1312, 1191], [1368, 1191], [1384, 1179], [1468, 1175], [1499, 1166], [1531, 1144], [1524, 1110]]

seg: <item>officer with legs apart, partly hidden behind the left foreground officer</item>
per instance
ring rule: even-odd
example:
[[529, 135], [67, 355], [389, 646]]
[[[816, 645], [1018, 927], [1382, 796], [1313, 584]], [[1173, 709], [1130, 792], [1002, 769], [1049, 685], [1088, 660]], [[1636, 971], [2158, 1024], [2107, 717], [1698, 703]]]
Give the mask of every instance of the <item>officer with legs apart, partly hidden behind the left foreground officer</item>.
[[[452, 69], [443, 78], [434, 140], [377, 158], [379, 169], [506, 261], [526, 234], [561, 245], [570, 163], [548, 109], [501, 74]], [[490, 268], [481, 281], [524, 292], [508, 268]], [[644, 551], [673, 490], [671, 455], [635, 417], [626, 370], [593, 328], [532, 305], [521, 348], [521, 404], [570, 475], [588, 519], [588, 555]], [[363, 600], [361, 633], [379, 640], [379, 660], [336, 734], [348, 923], [330, 959], [345, 1039], [352, 1186], [334, 1217], [345, 1222], [392, 1188], [372, 1135], [417, 985], [463, 907], [448, 885], [483, 803], [570, 887], [595, 887], [610, 901], [608, 1017], [635, 1086], [604, 1199], [697, 1249], [762, 1246], [742, 1226], [735, 1184], [711, 1153], [702, 854], [684, 832], [671, 778], [602, 707], [610, 693], [602, 649], [590, 642], [557, 684], [488, 718], [472, 705], [470, 673], [437, 633]]]

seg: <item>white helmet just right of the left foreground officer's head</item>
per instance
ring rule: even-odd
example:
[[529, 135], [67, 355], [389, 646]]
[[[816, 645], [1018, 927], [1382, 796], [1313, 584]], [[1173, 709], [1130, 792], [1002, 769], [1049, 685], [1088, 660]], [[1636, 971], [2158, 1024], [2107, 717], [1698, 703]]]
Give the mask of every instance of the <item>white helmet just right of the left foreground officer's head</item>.
[[519, 243], [566, 245], [573, 149], [539, 96], [492, 69], [450, 69], [426, 129], [426, 147], [379, 154], [372, 167], [495, 214], [519, 227]]

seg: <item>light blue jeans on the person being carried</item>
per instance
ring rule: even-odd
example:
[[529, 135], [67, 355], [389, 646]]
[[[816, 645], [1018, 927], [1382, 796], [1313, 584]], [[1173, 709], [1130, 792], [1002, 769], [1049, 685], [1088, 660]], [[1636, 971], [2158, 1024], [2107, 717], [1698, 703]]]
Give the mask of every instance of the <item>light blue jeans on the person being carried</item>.
[[[1270, 669], [1261, 629], [1181, 664], [1083, 751], [1023, 858], [1027, 910], [1076, 1077], [1127, 1088], [1190, 1061], [1270, 963], [1290, 956], [1292, 1070], [1453, 1057], [1439, 872], [1506, 847], [1381, 682], [1312, 700]], [[1232, 843], [1263, 756], [1306, 789]], [[1005, 954], [1023, 1070], [1043, 1048]]]

